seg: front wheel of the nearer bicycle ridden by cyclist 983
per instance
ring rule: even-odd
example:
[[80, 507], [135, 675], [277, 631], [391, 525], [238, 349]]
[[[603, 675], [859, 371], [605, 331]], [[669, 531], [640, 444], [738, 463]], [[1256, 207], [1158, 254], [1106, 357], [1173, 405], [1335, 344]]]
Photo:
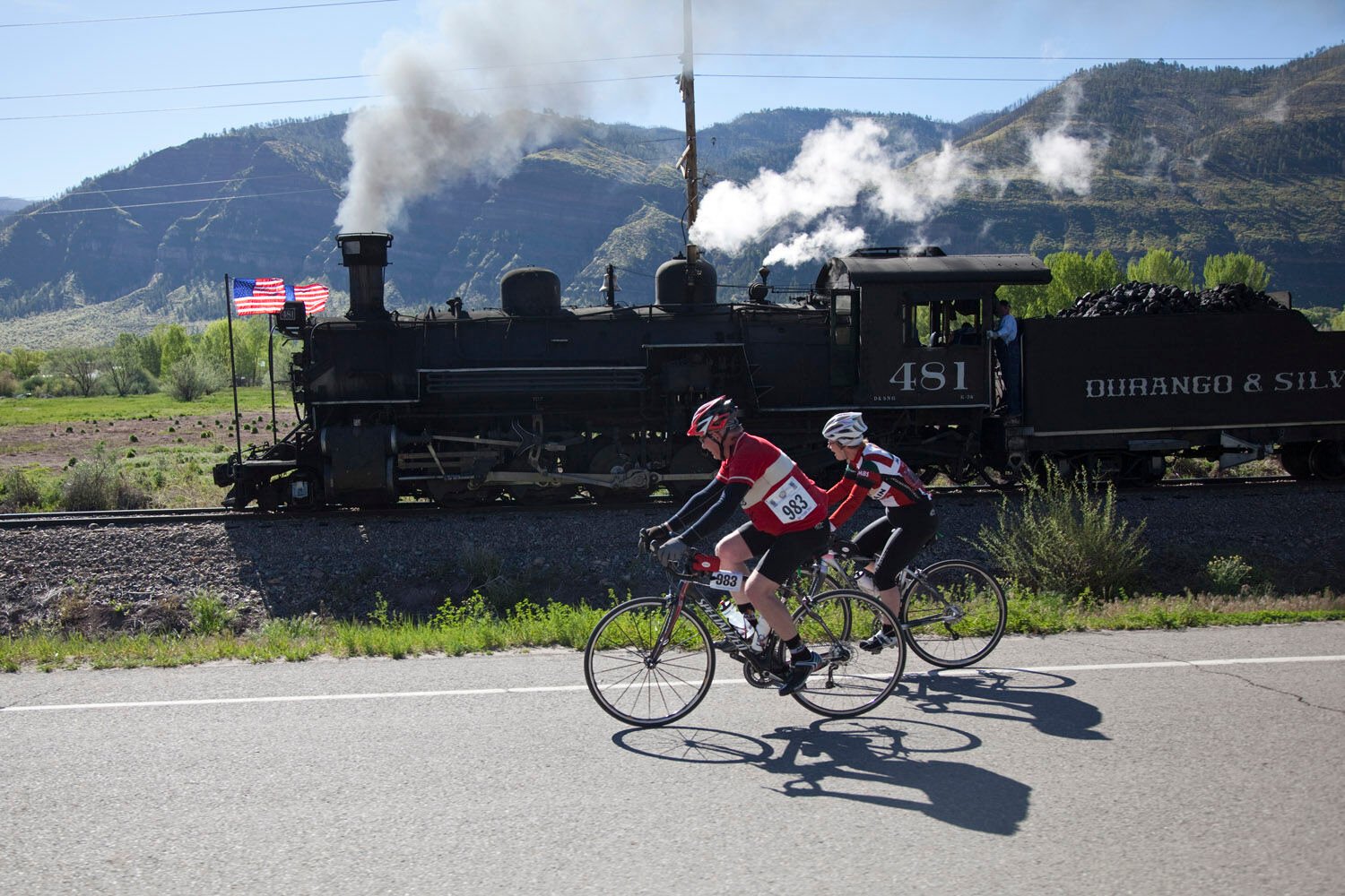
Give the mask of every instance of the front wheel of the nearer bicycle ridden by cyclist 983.
[[675, 721], [705, 699], [714, 649], [705, 623], [686, 607], [671, 617], [664, 598], [612, 607], [584, 647], [584, 680], [604, 712], [632, 725]]

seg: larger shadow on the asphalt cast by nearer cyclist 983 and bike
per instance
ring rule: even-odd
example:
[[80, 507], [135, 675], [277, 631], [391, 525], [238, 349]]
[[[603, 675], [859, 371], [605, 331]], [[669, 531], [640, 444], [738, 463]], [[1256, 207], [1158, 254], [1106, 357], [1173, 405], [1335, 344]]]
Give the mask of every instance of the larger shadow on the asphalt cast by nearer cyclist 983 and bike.
[[623, 750], [671, 762], [751, 764], [783, 778], [771, 790], [785, 797], [919, 811], [989, 834], [1014, 834], [1028, 817], [1032, 793], [1028, 785], [979, 766], [917, 758], [975, 750], [981, 739], [907, 719], [819, 719], [764, 737], [713, 728], [629, 728], [612, 740]]

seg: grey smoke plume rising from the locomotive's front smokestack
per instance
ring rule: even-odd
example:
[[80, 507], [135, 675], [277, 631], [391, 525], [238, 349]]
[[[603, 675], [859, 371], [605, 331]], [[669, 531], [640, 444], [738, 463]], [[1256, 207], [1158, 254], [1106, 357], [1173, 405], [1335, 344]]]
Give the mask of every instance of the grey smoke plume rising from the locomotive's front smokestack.
[[[623, 40], [642, 40], [636, 35], [652, 27], [643, 0], [441, 0], [432, 8], [440, 11], [434, 32], [389, 35], [375, 51], [378, 85], [390, 99], [356, 110], [346, 126], [351, 172], [336, 212], [343, 231], [389, 230], [402, 223], [408, 203], [444, 185], [508, 175], [561, 136], [564, 118], [522, 109], [584, 114], [589, 87], [577, 82], [628, 74], [620, 62], [603, 63], [599, 75], [539, 63], [619, 55]], [[671, 42], [663, 35], [651, 43]], [[604, 97], [643, 94], [650, 82], [603, 89]]]

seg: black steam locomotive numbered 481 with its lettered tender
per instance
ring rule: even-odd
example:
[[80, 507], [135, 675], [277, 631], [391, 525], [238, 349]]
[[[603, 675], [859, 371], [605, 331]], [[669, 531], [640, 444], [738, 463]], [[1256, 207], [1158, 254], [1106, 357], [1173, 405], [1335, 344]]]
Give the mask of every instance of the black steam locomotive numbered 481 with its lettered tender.
[[502, 494], [682, 497], [714, 470], [685, 438], [729, 395], [753, 433], [827, 481], [822, 423], [861, 410], [924, 476], [1003, 481], [1052, 462], [1153, 482], [1169, 458], [1278, 454], [1302, 478], [1345, 478], [1345, 333], [1294, 312], [1020, 322], [1021, 418], [997, 411], [1001, 285], [1050, 281], [1033, 255], [872, 249], [833, 258], [806, 294], [753, 283], [717, 302], [694, 246], [664, 262], [652, 304], [565, 308], [560, 278], [510, 271], [500, 308], [390, 313], [389, 234], [342, 234], [351, 308], [277, 328], [296, 345], [299, 426], [215, 467], [226, 506], [438, 504]]

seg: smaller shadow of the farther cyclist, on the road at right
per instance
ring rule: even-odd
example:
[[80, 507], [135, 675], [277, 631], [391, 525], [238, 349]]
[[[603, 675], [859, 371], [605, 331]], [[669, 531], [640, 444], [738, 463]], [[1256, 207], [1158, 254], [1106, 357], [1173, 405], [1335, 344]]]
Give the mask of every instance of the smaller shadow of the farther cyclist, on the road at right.
[[1110, 740], [1096, 729], [1102, 711], [1060, 693], [1073, 678], [1017, 669], [932, 669], [907, 676], [889, 700], [904, 696], [925, 713], [951, 713], [1026, 721], [1044, 735], [1073, 740]]

